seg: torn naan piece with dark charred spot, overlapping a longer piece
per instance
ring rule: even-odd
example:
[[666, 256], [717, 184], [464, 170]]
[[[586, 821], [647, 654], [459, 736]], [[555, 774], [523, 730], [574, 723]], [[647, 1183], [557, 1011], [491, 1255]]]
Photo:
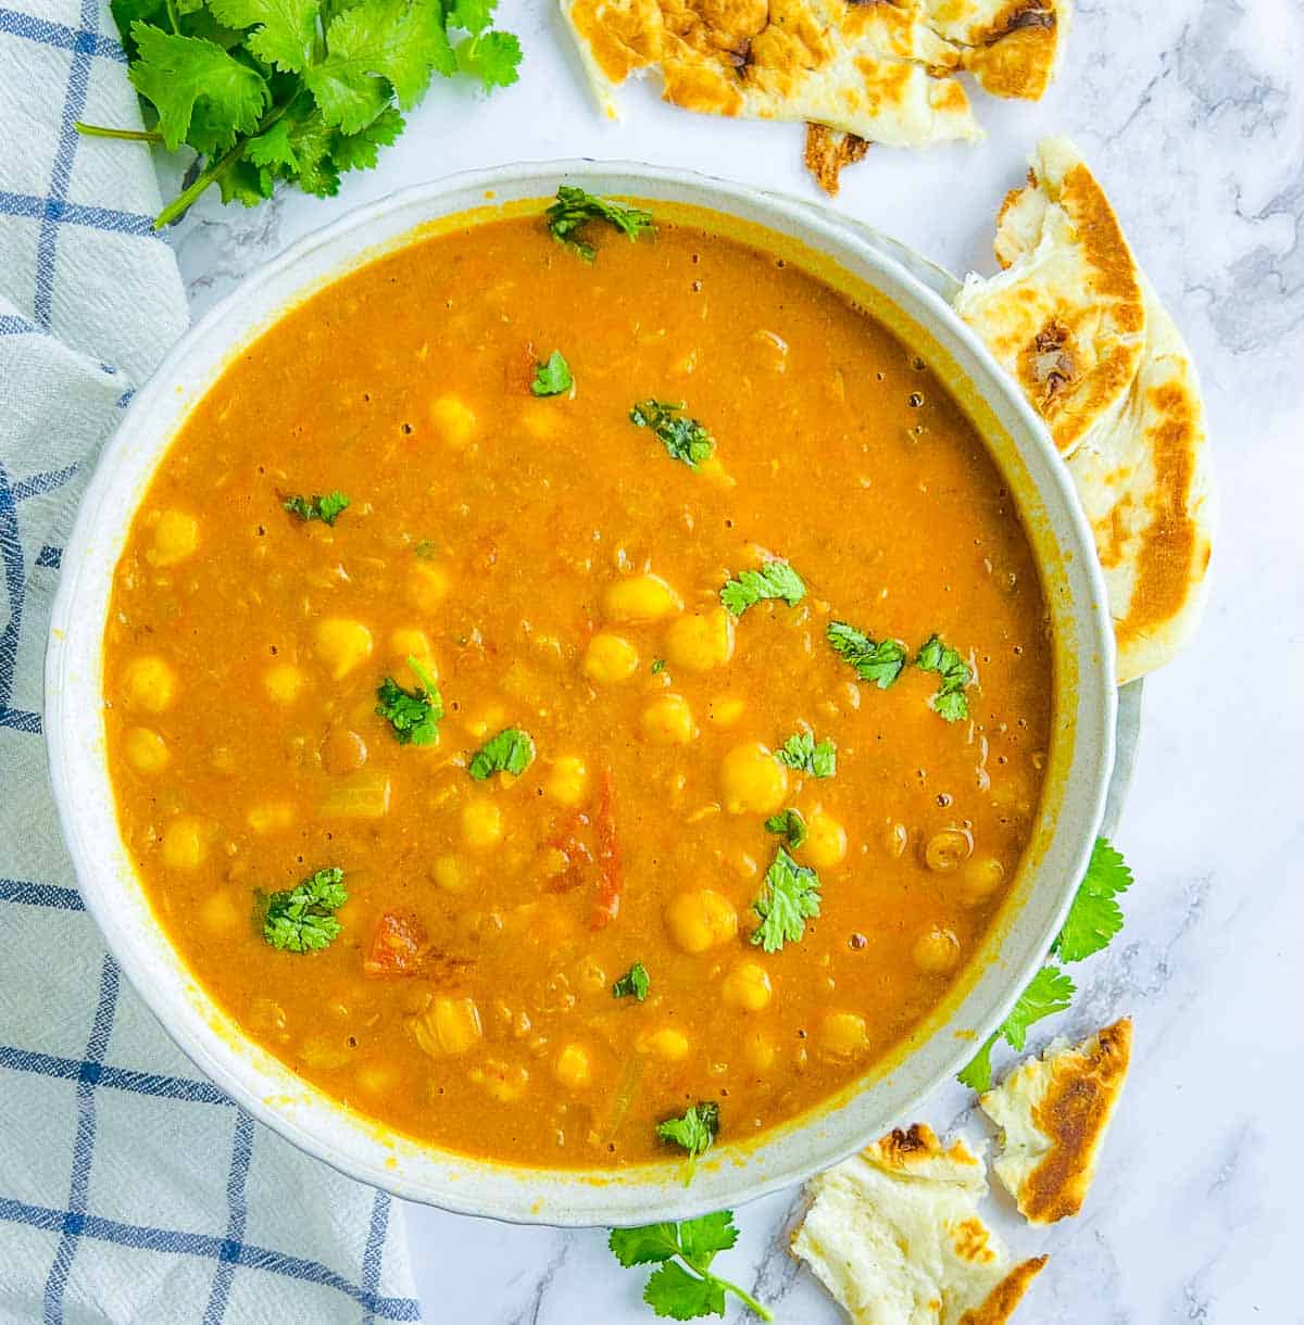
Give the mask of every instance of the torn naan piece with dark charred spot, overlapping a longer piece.
[[970, 276], [955, 310], [1071, 456], [1122, 412], [1145, 350], [1140, 272], [1104, 189], [1068, 139], [1034, 154], [997, 223], [1005, 270]]

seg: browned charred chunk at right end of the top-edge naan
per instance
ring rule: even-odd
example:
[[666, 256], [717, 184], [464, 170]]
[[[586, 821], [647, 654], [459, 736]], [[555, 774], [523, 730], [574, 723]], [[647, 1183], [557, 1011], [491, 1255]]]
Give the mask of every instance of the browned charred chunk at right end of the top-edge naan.
[[962, 68], [993, 97], [1039, 101], [1059, 73], [1069, 0], [924, 0], [938, 36], [961, 48]]

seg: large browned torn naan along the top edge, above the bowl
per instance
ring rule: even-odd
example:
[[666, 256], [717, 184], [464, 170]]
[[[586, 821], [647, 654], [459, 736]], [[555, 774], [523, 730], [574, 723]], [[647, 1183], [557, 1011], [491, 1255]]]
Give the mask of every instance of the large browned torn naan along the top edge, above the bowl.
[[[747, 119], [808, 121], [892, 147], [982, 136], [954, 74], [1040, 97], [1069, 0], [561, 0], [602, 109], [660, 69], [667, 101]], [[836, 188], [842, 154], [815, 154]], [[811, 146], [807, 144], [807, 160]]]

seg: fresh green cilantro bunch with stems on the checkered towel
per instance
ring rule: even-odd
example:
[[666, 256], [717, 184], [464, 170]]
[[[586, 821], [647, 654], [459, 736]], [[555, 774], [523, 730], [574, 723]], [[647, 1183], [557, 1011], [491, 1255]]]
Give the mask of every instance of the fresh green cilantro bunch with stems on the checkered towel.
[[154, 127], [77, 129], [199, 154], [199, 175], [159, 212], [159, 229], [213, 184], [245, 207], [280, 180], [331, 197], [345, 171], [375, 166], [435, 74], [486, 90], [516, 82], [521, 46], [490, 26], [496, 4], [111, 0]]

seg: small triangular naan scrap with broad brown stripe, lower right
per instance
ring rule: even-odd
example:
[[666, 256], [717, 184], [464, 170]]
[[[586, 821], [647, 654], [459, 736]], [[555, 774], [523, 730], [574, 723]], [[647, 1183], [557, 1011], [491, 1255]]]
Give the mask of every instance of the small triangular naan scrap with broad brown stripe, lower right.
[[1132, 1022], [1122, 1018], [1076, 1047], [1054, 1041], [978, 1101], [1003, 1132], [993, 1167], [1030, 1223], [1083, 1208], [1130, 1057]]

